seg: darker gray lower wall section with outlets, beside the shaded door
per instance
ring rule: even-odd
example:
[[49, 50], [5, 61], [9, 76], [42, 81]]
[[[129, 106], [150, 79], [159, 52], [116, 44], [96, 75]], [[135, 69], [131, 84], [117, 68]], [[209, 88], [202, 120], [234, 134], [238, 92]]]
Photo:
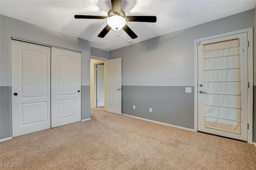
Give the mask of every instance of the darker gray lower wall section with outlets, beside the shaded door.
[[[185, 105], [177, 107], [181, 103]], [[194, 109], [194, 87], [192, 93], [185, 93], [185, 86], [122, 86], [122, 113], [128, 115], [192, 129], [191, 108]]]

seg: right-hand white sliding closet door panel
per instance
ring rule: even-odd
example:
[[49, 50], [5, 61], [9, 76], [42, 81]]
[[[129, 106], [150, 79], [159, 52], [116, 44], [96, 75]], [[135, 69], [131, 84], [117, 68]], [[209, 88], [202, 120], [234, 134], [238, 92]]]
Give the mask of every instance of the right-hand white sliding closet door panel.
[[52, 47], [52, 128], [81, 121], [81, 53]]

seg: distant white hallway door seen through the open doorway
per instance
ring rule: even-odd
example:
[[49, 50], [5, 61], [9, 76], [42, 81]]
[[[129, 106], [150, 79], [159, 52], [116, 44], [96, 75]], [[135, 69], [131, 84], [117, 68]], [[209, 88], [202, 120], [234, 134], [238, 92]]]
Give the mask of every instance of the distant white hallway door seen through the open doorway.
[[97, 88], [97, 99], [96, 106], [104, 106], [104, 65], [96, 65], [96, 88]]

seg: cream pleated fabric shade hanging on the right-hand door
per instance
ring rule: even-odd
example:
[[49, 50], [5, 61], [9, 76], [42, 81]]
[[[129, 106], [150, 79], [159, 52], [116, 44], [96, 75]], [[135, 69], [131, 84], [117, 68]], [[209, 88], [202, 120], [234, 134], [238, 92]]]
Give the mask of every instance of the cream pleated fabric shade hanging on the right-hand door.
[[204, 123], [241, 134], [241, 87], [239, 40], [203, 45]]

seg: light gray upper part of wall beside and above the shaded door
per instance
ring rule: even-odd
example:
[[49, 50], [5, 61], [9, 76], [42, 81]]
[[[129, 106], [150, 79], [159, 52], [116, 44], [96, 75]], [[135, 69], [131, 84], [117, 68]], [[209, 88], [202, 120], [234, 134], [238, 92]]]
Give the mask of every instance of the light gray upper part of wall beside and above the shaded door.
[[[254, 27], [254, 9], [110, 51], [122, 85], [194, 86], [194, 40]], [[138, 35], [140, 36], [140, 35]]]

